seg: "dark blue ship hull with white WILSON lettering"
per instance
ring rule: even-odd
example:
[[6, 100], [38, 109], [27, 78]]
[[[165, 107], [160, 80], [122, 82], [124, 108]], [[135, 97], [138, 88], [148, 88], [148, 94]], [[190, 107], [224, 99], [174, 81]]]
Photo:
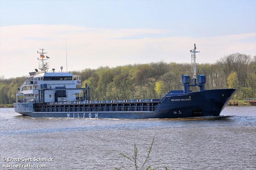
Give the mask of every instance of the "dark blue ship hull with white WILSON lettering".
[[[204, 90], [186, 95], [167, 95], [155, 111], [35, 112], [33, 103], [14, 103], [15, 112], [30, 117], [152, 119], [219, 116], [236, 89]], [[133, 102], [132, 104], [136, 104]]]

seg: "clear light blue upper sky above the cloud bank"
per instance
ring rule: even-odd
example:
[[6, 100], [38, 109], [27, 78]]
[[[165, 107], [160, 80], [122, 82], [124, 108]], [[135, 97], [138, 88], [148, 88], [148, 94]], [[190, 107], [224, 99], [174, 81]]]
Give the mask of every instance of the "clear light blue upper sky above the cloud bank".
[[169, 29], [171, 36], [255, 32], [256, 1], [1, 1], [1, 26]]

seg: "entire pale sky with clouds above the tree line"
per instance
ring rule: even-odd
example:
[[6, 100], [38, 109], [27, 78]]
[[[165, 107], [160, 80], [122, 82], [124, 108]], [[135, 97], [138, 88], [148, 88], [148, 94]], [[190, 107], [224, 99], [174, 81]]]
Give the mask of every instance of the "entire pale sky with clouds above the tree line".
[[165, 61], [198, 63], [256, 55], [256, 1], [3, 1], [0, 76], [38, 69], [44, 48], [50, 69], [68, 71]]

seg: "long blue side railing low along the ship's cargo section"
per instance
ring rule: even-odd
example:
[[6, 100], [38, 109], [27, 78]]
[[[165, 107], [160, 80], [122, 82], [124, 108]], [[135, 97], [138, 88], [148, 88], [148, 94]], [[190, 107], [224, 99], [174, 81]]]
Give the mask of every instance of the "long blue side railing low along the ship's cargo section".
[[158, 106], [118, 106], [118, 107], [52, 107], [36, 108], [35, 112], [151, 112]]

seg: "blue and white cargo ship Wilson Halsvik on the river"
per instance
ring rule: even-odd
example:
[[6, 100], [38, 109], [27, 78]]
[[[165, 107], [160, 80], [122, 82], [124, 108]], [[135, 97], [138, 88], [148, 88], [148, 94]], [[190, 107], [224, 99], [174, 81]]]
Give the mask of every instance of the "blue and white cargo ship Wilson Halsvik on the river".
[[[182, 75], [183, 90], [170, 91], [161, 99], [90, 100], [90, 87], [82, 87], [81, 76], [71, 72], [49, 70], [44, 49], [39, 70], [29, 72], [18, 88], [13, 105], [15, 112], [30, 117], [165, 119], [185, 117], [218, 117], [236, 89], [206, 90], [206, 77], [196, 75], [196, 44], [191, 53], [191, 72]], [[198, 91], [191, 91], [196, 86]]]

